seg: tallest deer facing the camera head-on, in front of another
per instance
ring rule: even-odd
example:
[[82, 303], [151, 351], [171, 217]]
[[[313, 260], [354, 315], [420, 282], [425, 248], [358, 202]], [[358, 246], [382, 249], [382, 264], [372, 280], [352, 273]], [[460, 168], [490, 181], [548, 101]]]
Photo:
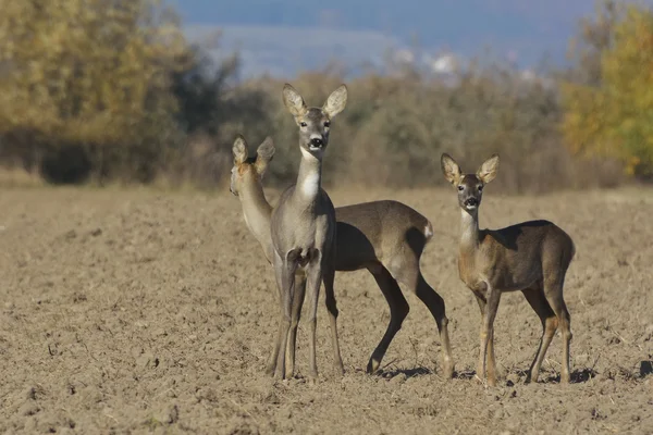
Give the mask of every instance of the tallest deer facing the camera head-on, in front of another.
[[[308, 294], [309, 376], [317, 380], [316, 327], [320, 284], [324, 283], [326, 309], [333, 333], [334, 362], [340, 374], [344, 372], [337, 341], [337, 309], [333, 294], [335, 277], [335, 209], [329, 195], [322, 189], [322, 158], [329, 145], [331, 120], [345, 109], [347, 87], [341, 85], [324, 102], [322, 108], [308, 108], [304, 99], [291, 85], [283, 87], [283, 102], [299, 126], [299, 150], [301, 160], [297, 183], [285, 189], [279, 204], [272, 211], [273, 264], [281, 299], [279, 336], [272, 352], [278, 353], [274, 375], [286, 377], [285, 361], [293, 306], [300, 303], [303, 295], [295, 295], [295, 272], [306, 271]], [[294, 353], [294, 348], [291, 349]], [[292, 358], [291, 355], [287, 356]], [[288, 377], [292, 376], [288, 373]]]

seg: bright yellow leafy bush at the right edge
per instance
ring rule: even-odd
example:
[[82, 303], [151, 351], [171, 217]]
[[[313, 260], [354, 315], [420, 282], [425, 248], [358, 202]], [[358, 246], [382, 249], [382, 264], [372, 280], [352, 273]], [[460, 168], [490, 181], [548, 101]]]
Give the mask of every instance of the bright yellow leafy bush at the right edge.
[[629, 7], [601, 51], [597, 87], [563, 84], [562, 129], [572, 152], [614, 156], [653, 173], [653, 11]]

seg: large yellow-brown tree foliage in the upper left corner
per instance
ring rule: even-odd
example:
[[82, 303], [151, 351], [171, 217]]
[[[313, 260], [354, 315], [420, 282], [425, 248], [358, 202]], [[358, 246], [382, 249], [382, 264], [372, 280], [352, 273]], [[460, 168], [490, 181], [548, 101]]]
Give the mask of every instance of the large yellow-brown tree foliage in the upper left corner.
[[[11, 67], [0, 84], [0, 133], [29, 127], [54, 142], [120, 144], [152, 116], [170, 123], [169, 82], [188, 47], [159, 1], [2, 0], [0, 36], [0, 63]], [[148, 96], [156, 107], [146, 107]]]

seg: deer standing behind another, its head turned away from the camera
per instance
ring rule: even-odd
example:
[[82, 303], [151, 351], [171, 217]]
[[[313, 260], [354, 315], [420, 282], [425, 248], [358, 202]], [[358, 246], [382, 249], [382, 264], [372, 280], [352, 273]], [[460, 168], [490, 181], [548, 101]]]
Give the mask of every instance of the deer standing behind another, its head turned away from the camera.
[[[234, 167], [232, 169], [232, 194], [238, 197], [245, 222], [261, 245], [266, 258], [273, 261], [270, 234], [272, 207], [263, 194], [262, 177], [274, 156], [272, 139], [267, 138], [257, 149], [256, 158], [248, 157], [247, 144], [238, 136], [233, 147]], [[443, 371], [452, 377], [454, 362], [447, 332], [444, 300], [423, 278], [419, 261], [426, 244], [433, 235], [429, 220], [397, 201], [372, 201], [335, 209], [336, 215], [336, 271], [367, 269], [377, 281], [390, 306], [390, 323], [383, 338], [374, 349], [367, 365], [373, 373], [402, 323], [408, 315], [409, 307], [397, 281], [410, 288], [428, 307], [435, 319], [443, 346]], [[304, 294], [305, 276], [296, 275], [297, 295]], [[299, 299], [301, 300], [301, 299]], [[301, 304], [293, 307], [293, 319], [288, 349], [294, 349]], [[332, 334], [335, 331], [332, 330]], [[294, 353], [288, 351], [291, 359]], [[294, 360], [286, 361], [286, 374], [292, 375]]]

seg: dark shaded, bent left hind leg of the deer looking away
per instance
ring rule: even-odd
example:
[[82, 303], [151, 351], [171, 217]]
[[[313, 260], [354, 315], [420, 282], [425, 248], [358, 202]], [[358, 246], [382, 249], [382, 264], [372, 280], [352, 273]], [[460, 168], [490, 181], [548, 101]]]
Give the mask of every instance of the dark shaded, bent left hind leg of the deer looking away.
[[394, 336], [402, 328], [402, 323], [404, 323], [404, 320], [408, 315], [410, 307], [408, 306], [408, 301], [404, 297], [404, 294], [402, 294], [399, 285], [396, 279], [392, 277], [387, 269], [375, 264], [368, 268], [368, 271], [370, 271], [377, 281], [377, 284], [390, 307], [390, 323], [387, 324], [385, 334], [383, 334], [383, 338], [381, 338], [381, 341], [377, 345], [377, 348], [368, 362], [367, 373], [371, 374], [379, 370], [381, 360], [383, 360]]

